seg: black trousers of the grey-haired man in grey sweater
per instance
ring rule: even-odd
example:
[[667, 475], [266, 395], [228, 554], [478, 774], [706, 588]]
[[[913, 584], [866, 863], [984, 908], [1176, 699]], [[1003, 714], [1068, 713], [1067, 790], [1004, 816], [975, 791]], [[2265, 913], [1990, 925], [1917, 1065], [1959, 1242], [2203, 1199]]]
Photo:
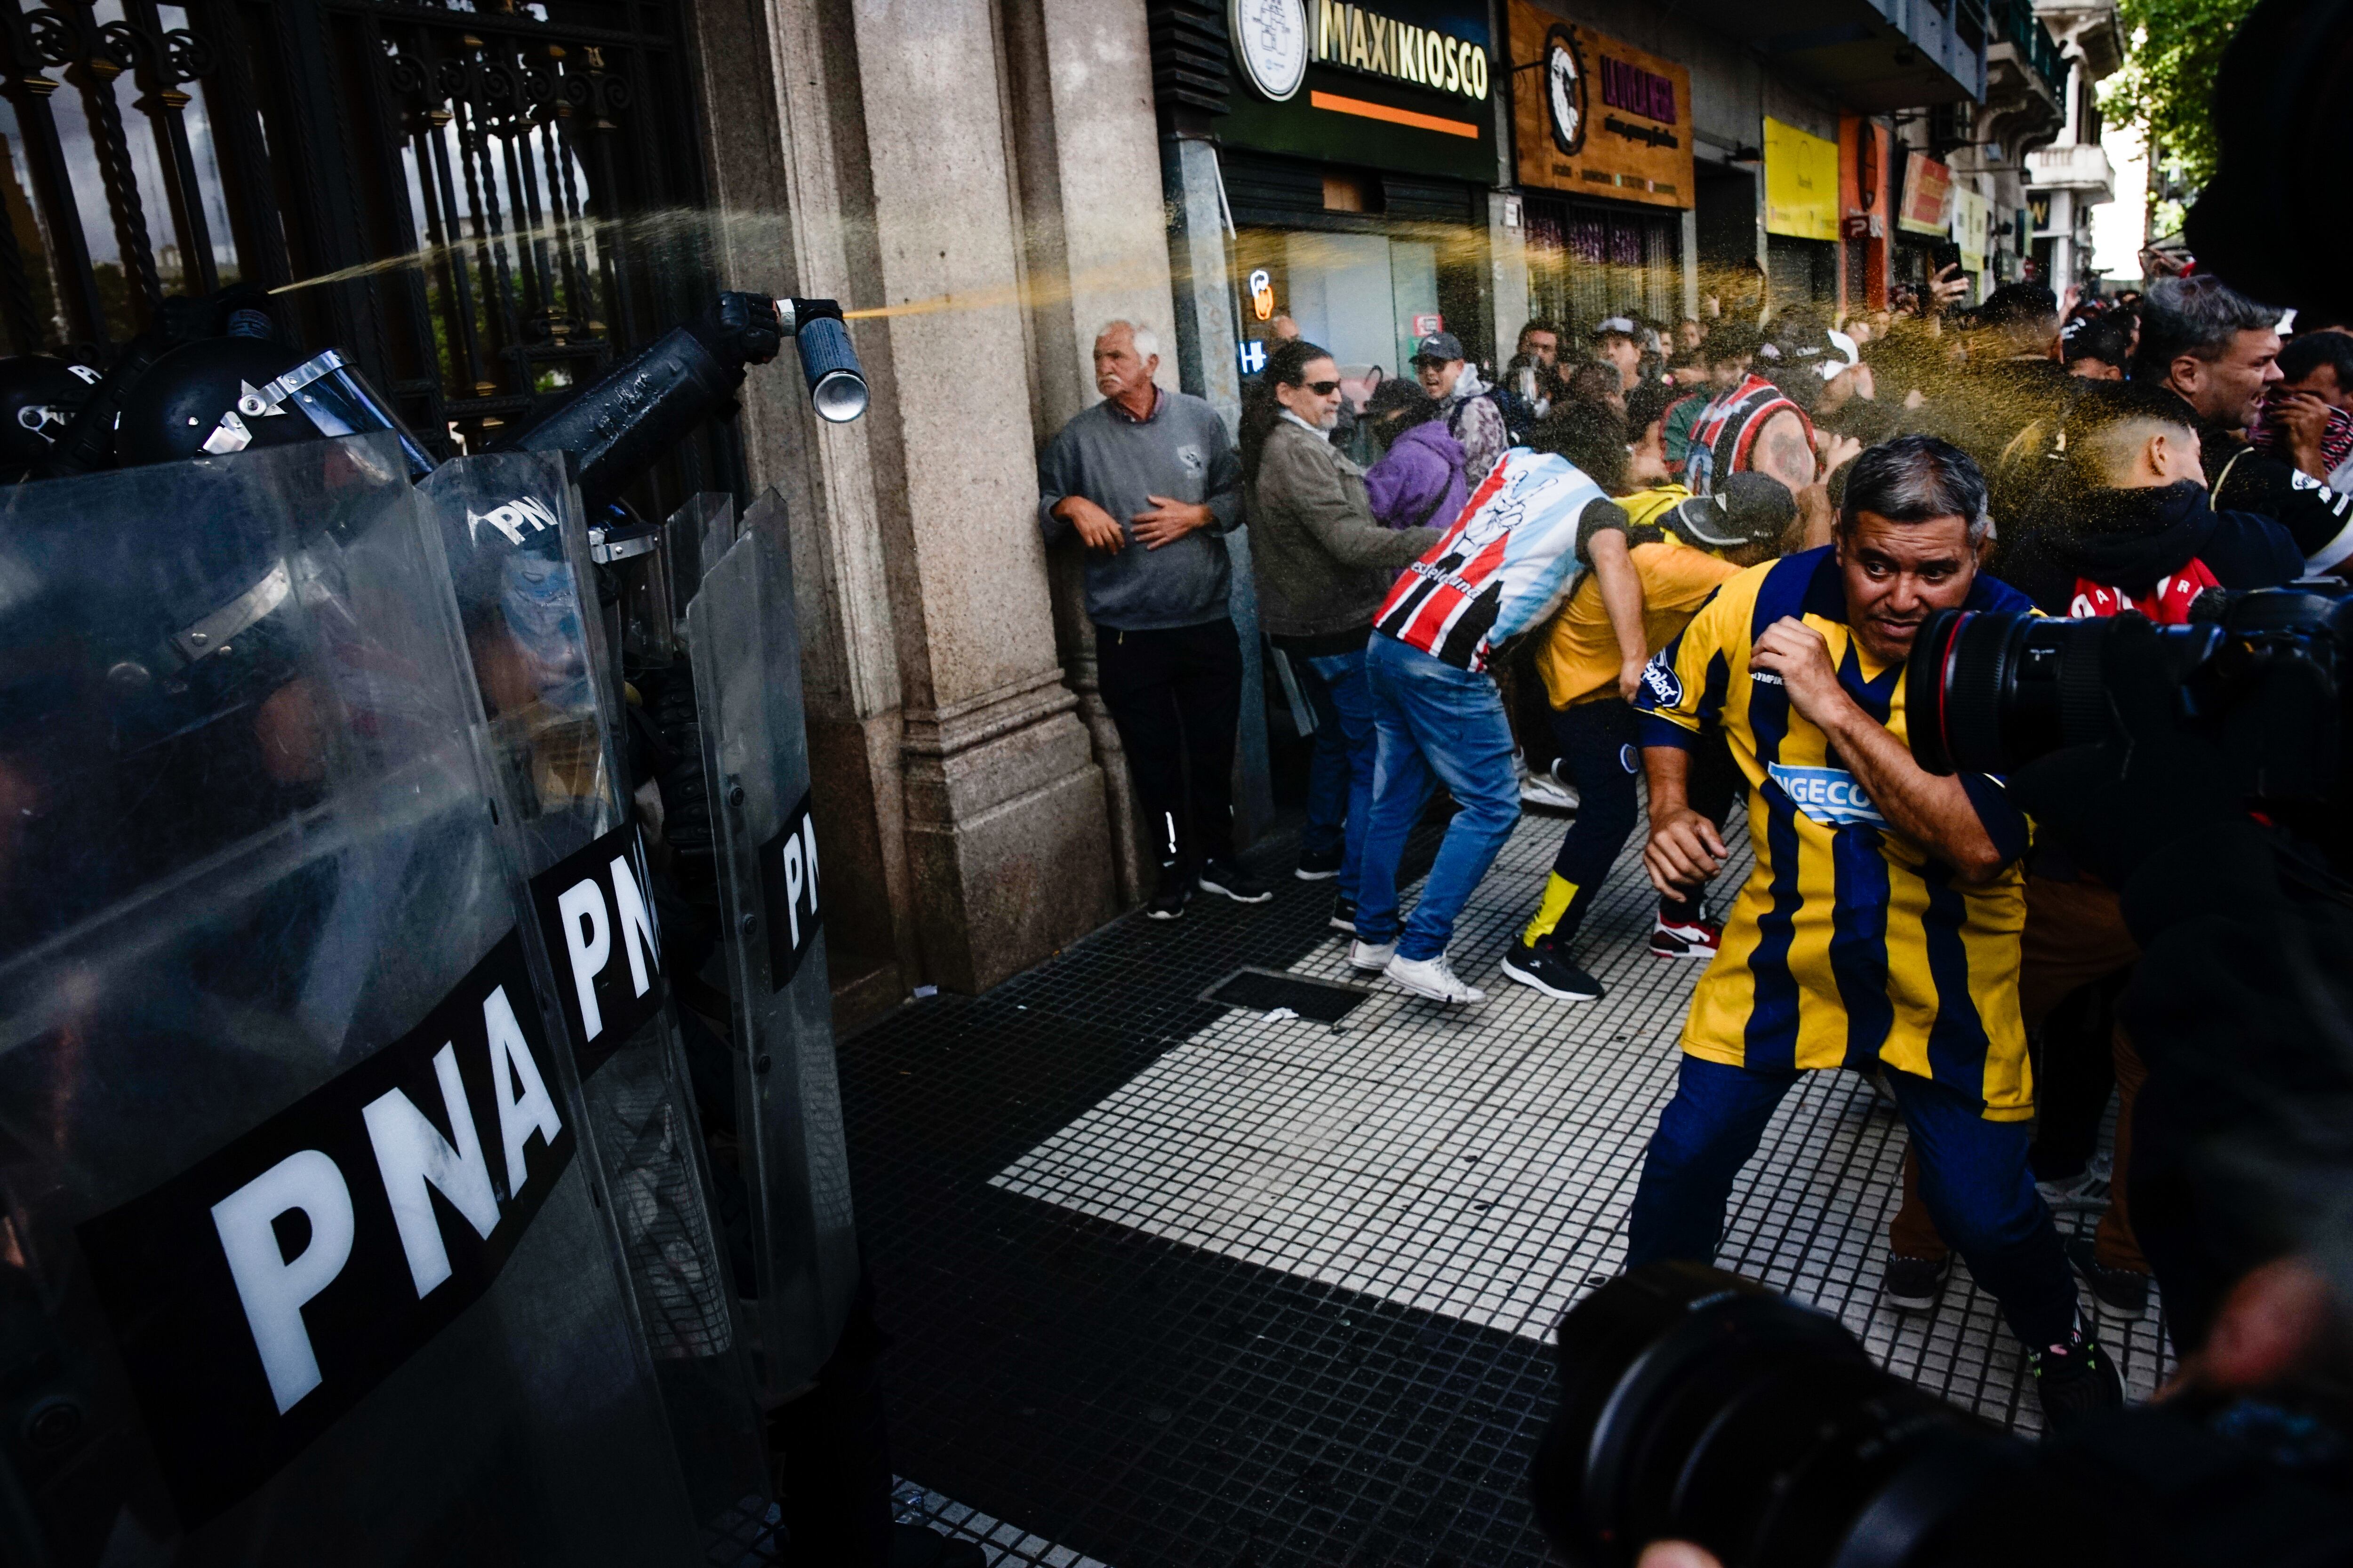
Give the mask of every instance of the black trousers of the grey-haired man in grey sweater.
[[1099, 625], [1094, 670], [1160, 865], [1231, 860], [1233, 733], [1242, 719], [1233, 621], [1158, 632]]

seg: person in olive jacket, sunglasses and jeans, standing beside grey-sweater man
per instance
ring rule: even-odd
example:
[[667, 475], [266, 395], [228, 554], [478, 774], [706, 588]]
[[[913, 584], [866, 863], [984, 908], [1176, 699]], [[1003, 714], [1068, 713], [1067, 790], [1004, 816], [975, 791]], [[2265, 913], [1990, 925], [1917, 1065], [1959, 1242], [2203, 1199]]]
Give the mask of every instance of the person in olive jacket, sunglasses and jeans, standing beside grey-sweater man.
[[[1289, 346], [1287, 346], [1289, 348]], [[1297, 374], [1297, 383], [1285, 383]], [[1365, 473], [1325, 440], [1339, 418], [1339, 369], [1313, 346], [1268, 364], [1271, 402], [1245, 421], [1249, 567], [1259, 623], [1292, 661], [1315, 705], [1315, 762], [1299, 877], [1339, 879], [1332, 926], [1355, 931], [1355, 877], [1372, 816], [1372, 691], [1365, 642], [1398, 571], [1440, 529], [1386, 529], [1365, 498]], [[1329, 388], [1329, 390], [1320, 390]], [[1452, 522], [1445, 520], [1445, 522]]]

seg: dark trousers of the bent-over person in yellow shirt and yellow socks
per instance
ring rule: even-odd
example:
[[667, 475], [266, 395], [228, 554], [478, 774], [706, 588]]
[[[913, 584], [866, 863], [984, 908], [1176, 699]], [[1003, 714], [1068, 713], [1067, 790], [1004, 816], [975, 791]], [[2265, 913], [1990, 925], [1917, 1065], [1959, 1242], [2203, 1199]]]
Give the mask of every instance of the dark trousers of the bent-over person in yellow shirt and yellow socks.
[[[1553, 743], [1560, 748], [1560, 771], [1577, 785], [1579, 804], [1577, 820], [1553, 856], [1544, 905], [1520, 933], [1527, 943], [1544, 938], [1567, 943], [1577, 936], [1642, 811], [1642, 743], [1633, 708], [1614, 696], [1560, 708], [1553, 712]], [[1732, 811], [1737, 785], [1739, 771], [1732, 757], [1722, 741], [1711, 736], [1692, 757], [1692, 811], [1722, 823]], [[1697, 898], [1701, 889], [1687, 893]]]

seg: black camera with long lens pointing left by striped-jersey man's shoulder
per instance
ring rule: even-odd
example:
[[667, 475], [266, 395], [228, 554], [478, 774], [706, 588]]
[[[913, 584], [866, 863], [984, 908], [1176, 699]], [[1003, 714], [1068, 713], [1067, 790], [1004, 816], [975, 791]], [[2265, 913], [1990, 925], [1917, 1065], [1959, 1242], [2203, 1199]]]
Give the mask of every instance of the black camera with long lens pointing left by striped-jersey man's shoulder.
[[[1913, 759], [1929, 773], [2012, 773], [2064, 745], [2115, 736], [2101, 675], [2113, 618], [1941, 609], [1913, 639], [1904, 715]], [[2353, 585], [2299, 578], [2285, 588], [2209, 588], [2184, 625], [2160, 625], [2162, 677], [2181, 717], [2228, 736], [2242, 795], [2268, 806], [2341, 804], [2344, 703], [2353, 696]], [[2301, 665], [2327, 691], [2297, 724], [2231, 726], [2273, 672]], [[2245, 733], [2240, 733], [2245, 731]]]

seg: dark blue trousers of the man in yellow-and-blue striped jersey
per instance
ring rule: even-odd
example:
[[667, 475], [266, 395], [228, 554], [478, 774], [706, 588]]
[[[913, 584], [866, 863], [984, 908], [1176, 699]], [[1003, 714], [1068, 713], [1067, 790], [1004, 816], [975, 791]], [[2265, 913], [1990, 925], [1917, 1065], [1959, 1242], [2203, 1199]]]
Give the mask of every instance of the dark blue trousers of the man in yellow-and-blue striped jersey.
[[[2052, 1211], [2026, 1164], [2033, 1126], [1986, 1121], [1974, 1100], [1911, 1072], [1882, 1072], [1920, 1157], [1920, 1197], [1969, 1274], [2002, 1305], [2019, 1342], [2042, 1347], [2075, 1328], [2075, 1279]], [[1642, 1157], [1626, 1222], [1626, 1267], [1661, 1258], [1715, 1262], [1732, 1178], [1758, 1152], [1795, 1072], [1751, 1072], [1682, 1058], [1675, 1098]]]

